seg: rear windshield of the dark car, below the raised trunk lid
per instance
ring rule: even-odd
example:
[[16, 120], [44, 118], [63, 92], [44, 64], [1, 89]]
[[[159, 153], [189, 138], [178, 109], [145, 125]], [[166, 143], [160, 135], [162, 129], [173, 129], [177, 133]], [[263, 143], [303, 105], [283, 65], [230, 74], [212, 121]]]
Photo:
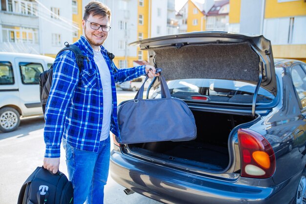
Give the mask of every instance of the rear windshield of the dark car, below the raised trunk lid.
[[[178, 99], [202, 102], [252, 103], [256, 85], [218, 79], [183, 79], [168, 81], [171, 96]], [[160, 87], [149, 98], [161, 98]], [[275, 97], [260, 88], [257, 102], [269, 103]]]

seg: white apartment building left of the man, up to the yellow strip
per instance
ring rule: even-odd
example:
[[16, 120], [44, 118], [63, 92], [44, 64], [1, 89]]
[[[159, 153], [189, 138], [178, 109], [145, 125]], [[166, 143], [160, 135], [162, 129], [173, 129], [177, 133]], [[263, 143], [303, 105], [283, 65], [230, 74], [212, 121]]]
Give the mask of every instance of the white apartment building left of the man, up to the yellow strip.
[[0, 51], [55, 57], [76, 28], [71, 1], [1, 0]]

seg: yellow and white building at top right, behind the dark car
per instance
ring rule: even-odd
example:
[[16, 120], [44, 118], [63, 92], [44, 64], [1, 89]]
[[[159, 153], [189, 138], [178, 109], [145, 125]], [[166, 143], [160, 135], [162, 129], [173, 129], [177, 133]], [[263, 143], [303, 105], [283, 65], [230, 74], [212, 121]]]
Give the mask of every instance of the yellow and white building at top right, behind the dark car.
[[230, 0], [229, 31], [260, 34], [275, 58], [306, 61], [305, 0]]

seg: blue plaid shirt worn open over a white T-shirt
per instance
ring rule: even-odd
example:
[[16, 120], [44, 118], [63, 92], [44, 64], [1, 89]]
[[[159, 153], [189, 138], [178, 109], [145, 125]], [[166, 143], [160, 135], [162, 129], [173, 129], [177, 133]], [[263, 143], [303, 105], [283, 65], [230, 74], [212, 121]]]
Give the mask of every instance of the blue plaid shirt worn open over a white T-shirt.
[[[72, 51], [60, 53], [53, 63], [53, 79], [45, 109], [45, 157], [60, 157], [62, 137], [77, 149], [97, 152], [103, 119], [103, 92], [100, 73], [93, 60], [93, 50], [84, 36], [74, 43], [87, 56], [79, 73]], [[112, 90], [110, 131], [119, 135], [115, 82], [125, 82], [145, 75], [145, 66], [117, 69], [107, 50], [101, 52], [109, 66]]]

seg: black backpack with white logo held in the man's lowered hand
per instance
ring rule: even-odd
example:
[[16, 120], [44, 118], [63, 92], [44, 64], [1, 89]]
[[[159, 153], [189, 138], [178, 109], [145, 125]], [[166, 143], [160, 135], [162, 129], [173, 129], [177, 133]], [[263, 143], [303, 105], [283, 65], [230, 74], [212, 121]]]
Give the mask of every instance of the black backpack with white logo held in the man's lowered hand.
[[37, 167], [22, 185], [18, 204], [73, 204], [72, 183], [60, 171]]

